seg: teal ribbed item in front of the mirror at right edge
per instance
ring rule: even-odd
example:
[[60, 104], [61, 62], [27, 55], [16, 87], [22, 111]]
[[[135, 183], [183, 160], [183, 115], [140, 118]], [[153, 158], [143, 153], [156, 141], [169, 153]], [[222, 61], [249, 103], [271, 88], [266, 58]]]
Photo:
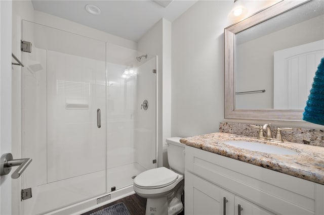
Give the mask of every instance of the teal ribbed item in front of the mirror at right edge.
[[303, 120], [324, 125], [324, 57], [320, 60], [306, 102]]

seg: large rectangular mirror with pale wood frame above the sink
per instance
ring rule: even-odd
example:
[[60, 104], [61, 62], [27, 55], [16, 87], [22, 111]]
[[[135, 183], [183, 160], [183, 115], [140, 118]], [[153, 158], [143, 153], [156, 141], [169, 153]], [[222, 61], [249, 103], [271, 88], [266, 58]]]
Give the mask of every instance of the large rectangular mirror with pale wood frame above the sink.
[[[323, 2], [281, 1], [224, 29], [225, 119], [302, 121], [324, 57]], [[302, 50], [298, 58], [311, 52], [314, 57], [305, 57], [311, 72], [298, 72], [291, 56], [282, 57], [288, 50]]]

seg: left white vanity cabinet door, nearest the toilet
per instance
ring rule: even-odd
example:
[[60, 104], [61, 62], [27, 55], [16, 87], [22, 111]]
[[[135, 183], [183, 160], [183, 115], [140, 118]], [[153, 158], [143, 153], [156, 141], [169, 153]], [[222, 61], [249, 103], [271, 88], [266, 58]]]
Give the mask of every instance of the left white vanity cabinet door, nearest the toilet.
[[234, 195], [186, 172], [185, 211], [186, 214], [196, 215], [233, 214]]

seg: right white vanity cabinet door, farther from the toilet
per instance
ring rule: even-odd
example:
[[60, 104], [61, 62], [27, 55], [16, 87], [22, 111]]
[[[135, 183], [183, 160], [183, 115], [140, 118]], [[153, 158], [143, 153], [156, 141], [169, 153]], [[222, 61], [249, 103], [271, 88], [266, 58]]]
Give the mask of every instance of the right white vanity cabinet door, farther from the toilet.
[[[235, 196], [234, 201], [235, 201], [235, 206], [234, 206], [235, 215], [272, 215], [273, 214], [268, 210], [260, 208], [255, 204], [252, 204], [251, 202], [242, 199], [238, 196]], [[240, 211], [238, 211], [239, 208]]]

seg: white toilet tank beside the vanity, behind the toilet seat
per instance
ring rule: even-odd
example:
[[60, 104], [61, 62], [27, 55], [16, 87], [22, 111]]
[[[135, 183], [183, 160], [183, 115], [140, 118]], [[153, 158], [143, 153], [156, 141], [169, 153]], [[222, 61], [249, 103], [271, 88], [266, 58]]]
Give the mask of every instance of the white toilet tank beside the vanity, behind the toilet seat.
[[184, 174], [185, 144], [181, 143], [180, 139], [181, 137], [167, 138], [168, 161], [171, 170]]

